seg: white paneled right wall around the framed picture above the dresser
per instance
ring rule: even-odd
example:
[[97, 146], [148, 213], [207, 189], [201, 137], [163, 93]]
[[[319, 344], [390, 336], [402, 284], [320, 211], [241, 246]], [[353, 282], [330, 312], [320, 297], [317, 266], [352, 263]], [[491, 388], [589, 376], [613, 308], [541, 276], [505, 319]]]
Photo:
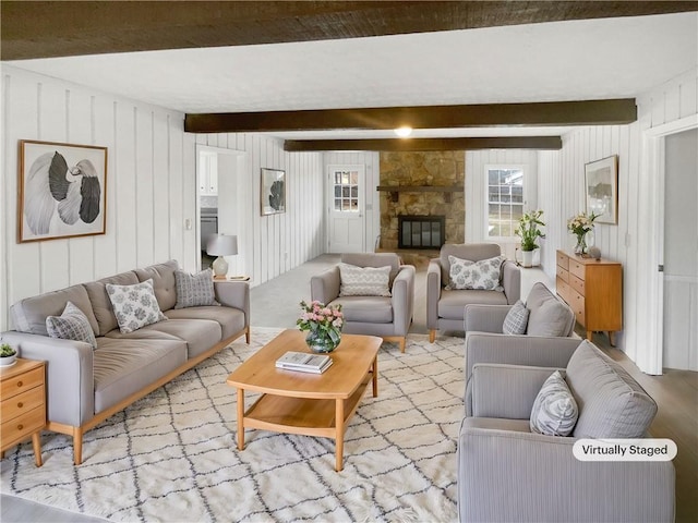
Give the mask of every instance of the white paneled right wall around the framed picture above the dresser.
[[567, 219], [585, 210], [585, 163], [618, 155], [618, 222], [595, 226], [595, 244], [604, 257], [623, 263], [623, 331], [618, 348], [650, 374], [661, 374], [652, 361], [655, 346], [652, 330], [651, 289], [657, 264], [657, 245], [648, 238], [652, 228], [651, 206], [658, 181], [648, 166], [643, 133], [655, 126], [697, 113], [698, 70], [694, 70], [638, 97], [638, 121], [630, 125], [585, 127], [563, 136], [559, 151], [539, 153], [538, 207], [547, 217], [546, 248], [542, 264], [554, 279], [555, 250], [570, 248], [574, 239]]

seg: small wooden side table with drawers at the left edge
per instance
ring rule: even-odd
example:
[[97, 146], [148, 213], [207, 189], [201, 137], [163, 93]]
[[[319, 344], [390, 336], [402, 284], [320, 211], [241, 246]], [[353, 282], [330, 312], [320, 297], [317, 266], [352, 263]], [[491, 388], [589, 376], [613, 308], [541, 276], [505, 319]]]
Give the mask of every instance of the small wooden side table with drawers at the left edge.
[[0, 367], [0, 443], [4, 451], [32, 436], [36, 466], [41, 466], [41, 429], [46, 427], [46, 367], [44, 362], [17, 357]]

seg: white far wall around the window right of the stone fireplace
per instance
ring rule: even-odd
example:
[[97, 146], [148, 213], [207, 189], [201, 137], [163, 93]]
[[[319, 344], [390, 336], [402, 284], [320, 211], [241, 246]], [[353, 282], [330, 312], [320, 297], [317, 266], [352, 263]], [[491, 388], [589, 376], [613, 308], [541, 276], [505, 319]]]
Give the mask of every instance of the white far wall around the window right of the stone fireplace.
[[[522, 165], [526, 166], [526, 203], [527, 210], [539, 208], [538, 197], [538, 151], [526, 149], [484, 149], [466, 151], [466, 242], [492, 242], [485, 235], [485, 217], [488, 216], [485, 166]], [[544, 217], [547, 219], [547, 216]], [[510, 242], [497, 242], [502, 252], [513, 259], [518, 239]], [[541, 246], [543, 246], [541, 241]]]

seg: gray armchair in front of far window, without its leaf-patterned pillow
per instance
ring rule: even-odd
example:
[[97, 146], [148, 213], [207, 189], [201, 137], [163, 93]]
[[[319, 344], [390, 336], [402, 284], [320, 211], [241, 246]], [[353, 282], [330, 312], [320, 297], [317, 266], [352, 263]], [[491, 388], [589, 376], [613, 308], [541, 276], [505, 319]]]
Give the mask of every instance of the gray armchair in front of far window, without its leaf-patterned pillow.
[[469, 262], [480, 262], [501, 256], [495, 243], [445, 244], [438, 258], [432, 259], [426, 269], [426, 327], [431, 342], [436, 330], [462, 330], [464, 311], [469, 303], [513, 305], [521, 295], [521, 272], [515, 263], [501, 265], [498, 289], [450, 289], [449, 256]]

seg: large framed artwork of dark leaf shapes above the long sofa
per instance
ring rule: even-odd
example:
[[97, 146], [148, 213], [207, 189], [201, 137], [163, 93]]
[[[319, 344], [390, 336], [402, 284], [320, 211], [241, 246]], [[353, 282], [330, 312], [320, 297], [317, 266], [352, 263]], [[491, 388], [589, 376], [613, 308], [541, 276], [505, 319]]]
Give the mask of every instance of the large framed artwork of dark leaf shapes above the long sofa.
[[20, 141], [17, 243], [105, 234], [107, 148]]

